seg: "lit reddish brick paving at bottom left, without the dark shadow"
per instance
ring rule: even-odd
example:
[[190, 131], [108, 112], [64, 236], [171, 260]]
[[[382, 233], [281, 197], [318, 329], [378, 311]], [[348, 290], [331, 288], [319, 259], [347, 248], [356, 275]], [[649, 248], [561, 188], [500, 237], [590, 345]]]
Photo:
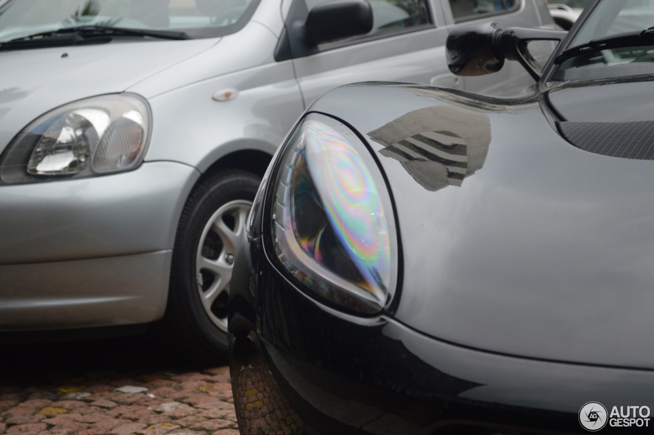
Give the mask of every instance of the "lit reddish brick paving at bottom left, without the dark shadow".
[[[147, 391], [116, 391], [119, 387]], [[0, 386], [0, 434], [235, 435], [226, 366], [180, 374], [80, 377], [62, 385]]]

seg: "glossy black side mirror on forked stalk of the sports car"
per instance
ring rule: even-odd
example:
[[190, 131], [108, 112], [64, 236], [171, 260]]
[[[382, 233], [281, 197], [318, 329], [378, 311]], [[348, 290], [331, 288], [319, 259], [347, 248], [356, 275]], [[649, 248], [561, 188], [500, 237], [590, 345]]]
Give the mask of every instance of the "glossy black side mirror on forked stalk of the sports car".
[[498, 29], [495, 23], [454, 29], [447, 37], [447, 66], [456, 75], [483, 75], [500, 71], [504, 60], [517, 60], [540, 80], [540, 67], [528, 50], [532, 41], [562, 41], [565, 30], [511, 27]]

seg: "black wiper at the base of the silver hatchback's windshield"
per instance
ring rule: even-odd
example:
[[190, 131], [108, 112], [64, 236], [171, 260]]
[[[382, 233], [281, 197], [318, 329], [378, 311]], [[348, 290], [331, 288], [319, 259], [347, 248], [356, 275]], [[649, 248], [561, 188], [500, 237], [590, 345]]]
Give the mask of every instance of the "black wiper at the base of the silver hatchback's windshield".
[[184, 32], [147, 29], [123, 29], [111, 26], [64, 27], [52, 31], [34, 33], [0, 44], [3, 48], [28, 48], [34, 46], [61, 46], [70, 44], [109, 42], [114, 36], [153, 37], [158, 39], [190, 39]]

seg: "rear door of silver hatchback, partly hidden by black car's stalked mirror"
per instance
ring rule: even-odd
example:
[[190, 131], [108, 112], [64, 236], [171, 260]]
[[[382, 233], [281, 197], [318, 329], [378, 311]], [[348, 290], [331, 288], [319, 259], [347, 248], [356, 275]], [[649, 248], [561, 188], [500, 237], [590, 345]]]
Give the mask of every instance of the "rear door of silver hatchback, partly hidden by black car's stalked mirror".
[[[542, 8], [538, 7], [537, 2], [542, 3]], [[543, 0], [443, 0], [443, 7], [450, 26], [494, 22], [498, 29], [555, 28]], [[534, 58], [543, 65], [554, 46], [549, 42], [539, 42], [530, 44], [529, 48]], [[515, 61], [507, 61], [497, 73], [462, 77], [461, 80], [465, 90], [492, 96], [514, 96], [535, 83], [534, 78]]]

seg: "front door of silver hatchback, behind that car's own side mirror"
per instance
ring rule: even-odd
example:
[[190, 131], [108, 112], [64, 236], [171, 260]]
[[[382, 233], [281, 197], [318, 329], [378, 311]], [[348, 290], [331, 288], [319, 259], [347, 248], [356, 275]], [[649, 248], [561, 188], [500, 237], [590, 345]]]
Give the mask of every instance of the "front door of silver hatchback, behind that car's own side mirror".
[[[328, 0], [284, 0], [286, 31], [301, 38], [297, 23]], [[318, 44], [313, 54], [291, 53], [305, 105], [351, 82], [394, 80], [456, 87], [460, 78], [445, 63], [441, 0], [369, 0], [373, 29], [366, 35]]]

